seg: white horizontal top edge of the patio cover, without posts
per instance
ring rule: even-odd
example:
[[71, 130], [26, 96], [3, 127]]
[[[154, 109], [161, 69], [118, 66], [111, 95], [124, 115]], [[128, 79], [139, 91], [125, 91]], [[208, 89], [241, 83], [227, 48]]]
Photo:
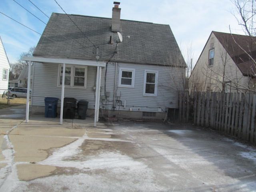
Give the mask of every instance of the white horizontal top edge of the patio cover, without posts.
[[87, 65], [87, 66], [100, 66], [106, 67], [104, 62], [96, 62], [90, 60], [78, 60], [78, 59], [67, 59], [67, 58], [44, 58], [44, 57], [23, 57], [24, 61], [32, 62], [44, 62], [44, 63], [65, 63], [74, 65]]

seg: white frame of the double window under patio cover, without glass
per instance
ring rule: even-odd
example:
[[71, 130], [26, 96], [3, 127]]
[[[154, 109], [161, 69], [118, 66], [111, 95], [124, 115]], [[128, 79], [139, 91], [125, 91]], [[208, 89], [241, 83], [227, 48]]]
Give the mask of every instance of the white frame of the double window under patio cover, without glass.
[[[57, 79], [57, 87], [62, 87], [60, 84], [60, 72], [61, 72], [61, 67], [63, 67], [63, 64], [59, 64], [58, 66], [58, 79]], [[70, 85], [65, 85], [66, 88], [82, 88], [86, 89], [87, 87], [87, 66], [83, 65], [68, 65], [66, 64], [66, 68], [71, 67], [71, 73], [70, 73]], [[75, 68], [84, 68], [84, 86], [74, 86], [74, 78], [75, 78]]]

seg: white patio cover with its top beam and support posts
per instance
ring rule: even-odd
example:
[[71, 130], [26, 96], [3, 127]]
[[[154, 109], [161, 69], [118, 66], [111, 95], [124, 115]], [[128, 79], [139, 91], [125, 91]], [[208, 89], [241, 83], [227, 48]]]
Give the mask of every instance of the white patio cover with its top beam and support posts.
[[[29, 61], [28, 90], [30, 90], [30, 74], [31, 74], [32, 62], [63, 64], [63, 71], [65, 71], [66, 64], [96, 66], [97, 78], [96, 78], [96, 94], [95, 94], [95, 112], [94, 112], [94, 126], [96, 126], [96, 122], [98, 122], [98, 119], [99, 119], [101, 68], [106, 67], [105, 62], [68, 59], [68, 58], [44, 58], [44, 57], [23, 57], [23, 60]], [[63, 73], [62, 78], [65, 79], [65, 73]], [[63, 123], [63, 102], [64, 102], [64, 88], [65, 88], [64, 82], [65, 81], [62, 81], [62, 91], [61, 91], [61, 107], [60, 107], [60, 124], [61, 125]], [[29, 115], [29, 91], [27, 92], [27, 103], [26, 103], [26, 122], [27, 123], [28, 123], [28, 115]]]

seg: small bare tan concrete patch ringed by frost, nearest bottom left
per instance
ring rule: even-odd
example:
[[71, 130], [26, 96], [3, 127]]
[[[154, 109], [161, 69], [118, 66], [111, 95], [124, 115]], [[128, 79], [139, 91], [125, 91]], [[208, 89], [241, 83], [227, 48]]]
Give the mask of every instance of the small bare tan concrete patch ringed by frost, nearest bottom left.
[[29, 181], [51, 175], [56, 167], [39, 164], [18, 164], [17, 170], [19, 180]]

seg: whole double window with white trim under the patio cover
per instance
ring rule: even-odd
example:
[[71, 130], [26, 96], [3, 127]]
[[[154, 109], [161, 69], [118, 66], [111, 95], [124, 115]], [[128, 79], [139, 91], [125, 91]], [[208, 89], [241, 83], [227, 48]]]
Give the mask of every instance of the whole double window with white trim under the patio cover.
[[[62, 86], [63, 79], [63, 65], [59, 66], [58, 72], [58, 86]], [[86, 88], [87, 83], [87, 66], [72, 66], [65, 67], [65, 86]]]

